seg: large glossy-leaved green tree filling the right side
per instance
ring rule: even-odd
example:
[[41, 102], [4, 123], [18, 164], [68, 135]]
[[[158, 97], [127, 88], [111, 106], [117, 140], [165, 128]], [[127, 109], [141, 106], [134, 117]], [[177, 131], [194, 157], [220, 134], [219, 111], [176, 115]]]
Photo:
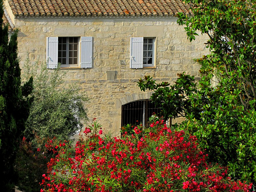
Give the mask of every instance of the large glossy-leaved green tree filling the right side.
[[[233, 178], [256, 180], [256, 19], [255, 1], [185, 0], [194, 16], [178, 14], [190, 41], [197, 31], [209, 36], [210, 54], [202, 65], [198, 85], [181, 74], [175, 85], [140, 80], [141, 90], [154, 90], [165, 118], [185, 116], [179, 126], [196, 135], [210, 161], [229, 166]], [[216, 77], [219, 85], [211, 87]]]

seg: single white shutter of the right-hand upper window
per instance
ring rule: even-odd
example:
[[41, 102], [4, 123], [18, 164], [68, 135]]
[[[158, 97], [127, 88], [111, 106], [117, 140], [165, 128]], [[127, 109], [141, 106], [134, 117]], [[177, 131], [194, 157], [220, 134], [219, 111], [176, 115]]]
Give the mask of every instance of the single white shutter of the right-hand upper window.
[[143, 68], [143, 37], [131, 37], [130, 68]]

